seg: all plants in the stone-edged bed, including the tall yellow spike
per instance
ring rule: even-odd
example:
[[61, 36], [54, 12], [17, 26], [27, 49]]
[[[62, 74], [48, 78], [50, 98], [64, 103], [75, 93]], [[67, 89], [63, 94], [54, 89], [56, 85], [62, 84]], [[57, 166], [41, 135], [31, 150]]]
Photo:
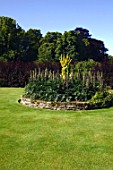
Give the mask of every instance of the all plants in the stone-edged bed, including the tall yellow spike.
[[72, 70], [68, 55], [60, 57], [61, 72], [34, 70], [25, 87], [25, 97], [53, 102], [89, 101], [93, 107], [113, 104], [113, 96], [103, 84], [103, 74], [92, 70]]

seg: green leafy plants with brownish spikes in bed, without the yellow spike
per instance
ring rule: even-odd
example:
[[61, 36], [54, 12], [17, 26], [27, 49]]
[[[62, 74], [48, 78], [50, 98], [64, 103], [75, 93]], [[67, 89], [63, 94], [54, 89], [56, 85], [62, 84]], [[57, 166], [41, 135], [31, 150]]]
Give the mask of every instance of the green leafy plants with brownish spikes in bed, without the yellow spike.
[[99, 80], [94, 81], [92, 77], [90, 78], [88, 74], [84, 75], [82, 72], [62, 79], [59, 74], [50, 74], [45, 70], [31, 76], [25, 87], [24, 95], [32, 99], [47, 101], [87, 101], [101, 87]]

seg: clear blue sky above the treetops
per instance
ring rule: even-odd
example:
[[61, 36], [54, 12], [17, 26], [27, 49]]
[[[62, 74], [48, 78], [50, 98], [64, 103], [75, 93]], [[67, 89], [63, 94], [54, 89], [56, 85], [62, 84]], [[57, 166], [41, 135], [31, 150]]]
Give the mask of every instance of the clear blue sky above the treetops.
[[0, 16], [10, 17], [25, 30], [49, 32], [89, 30], [113, 56], [113, 0], [0, 0]]

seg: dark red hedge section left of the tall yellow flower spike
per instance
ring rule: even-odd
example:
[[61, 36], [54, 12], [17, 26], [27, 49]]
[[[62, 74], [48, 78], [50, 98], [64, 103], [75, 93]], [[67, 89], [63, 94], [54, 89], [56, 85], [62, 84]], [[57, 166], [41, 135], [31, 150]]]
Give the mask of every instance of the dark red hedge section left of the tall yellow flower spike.
[[44, 70], [60, 70], [60, 64], [52, 62], [25, 63], [20, 60], [12, 62], [0, 61], [0, 86], [24, 87], [30, 76], [30, 71], [35, 68]]

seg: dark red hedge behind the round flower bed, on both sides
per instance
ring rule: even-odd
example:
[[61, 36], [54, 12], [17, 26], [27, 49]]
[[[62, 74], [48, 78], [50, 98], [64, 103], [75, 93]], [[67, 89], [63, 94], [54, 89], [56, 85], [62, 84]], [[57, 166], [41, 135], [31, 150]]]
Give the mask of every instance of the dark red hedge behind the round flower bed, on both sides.
[[[61, 71], [58, 62], [29, 62], [25, 63], [20, 60], [12, 62], [0, 61], [0, 86], [1, 87], [24, 87], [30, 77], [30, 71], [35, 68], [40, 70]], [[97, 64], [97, 71], [103, 72], [104, 83], [113, 88], [113, 60], [104, 60], [101, 64]]]

